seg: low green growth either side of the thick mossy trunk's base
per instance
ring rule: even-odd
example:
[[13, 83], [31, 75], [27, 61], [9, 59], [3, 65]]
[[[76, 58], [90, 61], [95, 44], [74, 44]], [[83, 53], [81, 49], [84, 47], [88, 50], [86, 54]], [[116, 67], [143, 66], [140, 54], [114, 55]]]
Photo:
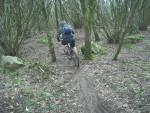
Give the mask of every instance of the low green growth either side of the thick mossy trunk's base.
[[[84, 45], [81, 46], [81, 51], [80, 51], [80, 57], [82, 60], [85, 60], [84, 58]], [[107, 52], [106, 48], [103, 47], [101, 42], [92, 42], [91, 43], [91, 51], [92, 51], [92, 55], [91, 55], [91, 60], [96, 59], [96, 57], [101, 56], [101, 55], [105, 55]]]

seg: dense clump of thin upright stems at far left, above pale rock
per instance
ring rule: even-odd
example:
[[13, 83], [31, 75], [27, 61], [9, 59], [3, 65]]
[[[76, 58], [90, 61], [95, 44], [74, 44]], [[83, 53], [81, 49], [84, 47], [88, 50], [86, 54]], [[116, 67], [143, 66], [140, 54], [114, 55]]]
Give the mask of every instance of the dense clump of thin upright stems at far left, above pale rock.
[[[6, 55], [18, 55], [28, 30], [32, 29], [36, 6], [33, 0], [2, 0], [0, 14], [0, 45]], [[29, 27], [30, 26], [30, 27]]]

